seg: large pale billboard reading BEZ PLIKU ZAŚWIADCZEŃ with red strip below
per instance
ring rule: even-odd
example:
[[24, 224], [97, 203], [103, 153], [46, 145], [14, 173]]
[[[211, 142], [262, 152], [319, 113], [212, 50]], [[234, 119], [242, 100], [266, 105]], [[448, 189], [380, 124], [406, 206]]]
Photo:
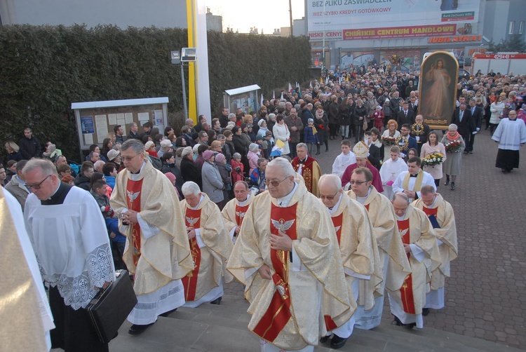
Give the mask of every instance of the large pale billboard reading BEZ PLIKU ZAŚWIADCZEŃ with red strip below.
[[[450, 4], [451, 3], [451, 4]], [[307, 1], [311, 40], [342, 32], [344, 40], [448, 36], [466, 22], [478, 22], [480, 0], [325, 0]], [[406, 26], [417, 20], [417, 26]], [[371, 26], [374, 24], [373, 26]], [[339, 40], [325, 36], [325, 40]]]

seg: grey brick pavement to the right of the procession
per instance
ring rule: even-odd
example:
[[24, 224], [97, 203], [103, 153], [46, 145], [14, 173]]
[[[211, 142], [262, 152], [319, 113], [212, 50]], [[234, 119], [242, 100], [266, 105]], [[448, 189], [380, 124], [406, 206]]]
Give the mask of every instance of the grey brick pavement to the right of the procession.
[[[322, 147], [316, 159], [323, 172], [330, 172], [340, 142], [330, 141], [328, 152]], [[526, 148], [521, 168], [510, 174], [494, 167], [496, 156], [497, 143], [481, 131], [473, 154], [463, 155], [455, 191], [443, 181], [438, 188], [454, 208], [459, 258], [446, 283], [445, 308], [431, 310], [424, 324], [526, 349]], [[227, 284], [225, 293], [243, 295], [243, 286]], [[384, 318], [392, 320], [388, 306]]]

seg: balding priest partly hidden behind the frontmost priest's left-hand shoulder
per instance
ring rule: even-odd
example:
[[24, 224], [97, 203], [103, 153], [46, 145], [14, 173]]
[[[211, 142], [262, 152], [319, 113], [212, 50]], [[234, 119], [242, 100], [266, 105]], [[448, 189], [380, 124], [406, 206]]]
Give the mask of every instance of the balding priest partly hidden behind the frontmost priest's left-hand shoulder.
[[[266, 164], [265, 168], [267, 168]], [[224, 205], [221, 214], [223, 215], [224, 226], [227, 227], [230, 238], [236, 243], [239, 231], [241, 231], [241, 224], [243, 224], [243, 218], [248, 208], [250, 208], [250, 204], [254, 201], [255, 194], [250, 192], [247, 182], [238, 181], [234, 184], [234, 197], [227, 205]]]

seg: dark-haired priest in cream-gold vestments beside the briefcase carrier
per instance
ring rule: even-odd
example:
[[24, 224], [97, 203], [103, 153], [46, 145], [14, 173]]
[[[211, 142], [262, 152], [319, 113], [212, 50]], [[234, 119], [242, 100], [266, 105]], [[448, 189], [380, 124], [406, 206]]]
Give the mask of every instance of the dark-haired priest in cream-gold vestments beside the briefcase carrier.
[[194, 265], [173, 184], [145, 158], [140, 141], [124, 142], [121, 155], [126, 170], [116, 177], [110, 204], [126, 235], [123, 261], [135, 279], [138, 302], [128, 333], [136, 335], [184, 304], [181, 278]]

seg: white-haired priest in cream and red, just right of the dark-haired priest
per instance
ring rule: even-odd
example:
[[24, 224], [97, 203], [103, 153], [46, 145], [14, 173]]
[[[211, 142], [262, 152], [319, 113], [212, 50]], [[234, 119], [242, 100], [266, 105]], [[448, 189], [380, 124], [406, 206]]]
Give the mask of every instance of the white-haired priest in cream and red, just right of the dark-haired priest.
[[[224, 267], [232, 252], [232, 241], [217, 205], [201, 192], [195, 182], [182, 185], [181, 202], [194, 270], [182, 278], [184, 306], [195, 308], [203, 303], [221, 304]], [[226, 273], [225, 282], [232, 280]]]

